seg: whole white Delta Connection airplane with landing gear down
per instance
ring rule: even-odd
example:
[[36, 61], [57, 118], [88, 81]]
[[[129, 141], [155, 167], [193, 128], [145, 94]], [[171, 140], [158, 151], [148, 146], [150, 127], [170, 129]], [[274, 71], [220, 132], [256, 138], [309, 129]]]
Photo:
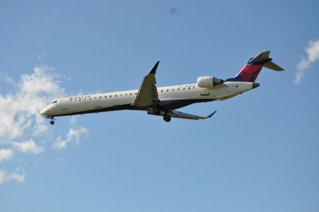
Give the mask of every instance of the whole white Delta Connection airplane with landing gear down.
[[155, 74], [160, 61], [144, 77], [142, 84], [137, 90], [117, 91], [92, 95], [80, 95], [65, 97], [53, 101], [46, 106], [40, 115], [51, 119], [54, 117], [83, 115], [88, 113], [100, 113], [117, 110], [142, 110], [149, 115], [162, 116], [164, 121], [171, 118], [181, 119], [207, 119], [216, 111], [206, 117], [191, 115], [176, 111], [193, 103], [226, 100], [257, 88], [260, 84], [255, 80], [262, 67], [275, 71], [284, 69], [272, 62], [269, 58], [270, 51], [264, 51], [251, 58], [244, 68], [233, 78], [225, 80], [212, 76], [197, 78], [197, 83], [157, 87]]

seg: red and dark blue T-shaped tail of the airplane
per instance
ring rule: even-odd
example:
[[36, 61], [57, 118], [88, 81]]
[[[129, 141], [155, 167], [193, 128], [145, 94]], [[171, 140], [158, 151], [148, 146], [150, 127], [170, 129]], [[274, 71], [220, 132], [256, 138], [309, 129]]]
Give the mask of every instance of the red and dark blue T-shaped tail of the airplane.
[[283, 71], [284, 69], [272, 62], [269, 58], [270, 51], [264, 51], [256, 57], [251, 58], [247, 65], [233, 78], [226, 79], [226, 81], [236, 82], [255, 82], [258, 74], [263, 66], [273, 69], [275, 71]]

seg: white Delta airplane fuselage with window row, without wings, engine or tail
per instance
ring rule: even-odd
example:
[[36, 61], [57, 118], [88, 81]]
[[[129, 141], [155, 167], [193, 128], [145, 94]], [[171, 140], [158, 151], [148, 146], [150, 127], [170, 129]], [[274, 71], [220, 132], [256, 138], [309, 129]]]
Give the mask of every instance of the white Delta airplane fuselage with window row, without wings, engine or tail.
[[[200, 88], [196, 83], [157, 88], [161, 102], [170, 109], [177, 109], [197, 102], [225, 100], [253, 89], [252, 82], [227, 81], [211, 88]], [[151, 110], [150, 107], [134, 107], [138, 90], [118, 91], [92, 95], [80, 95], [58, 99], [41, 111], [49, 118], [114, 110]]]

